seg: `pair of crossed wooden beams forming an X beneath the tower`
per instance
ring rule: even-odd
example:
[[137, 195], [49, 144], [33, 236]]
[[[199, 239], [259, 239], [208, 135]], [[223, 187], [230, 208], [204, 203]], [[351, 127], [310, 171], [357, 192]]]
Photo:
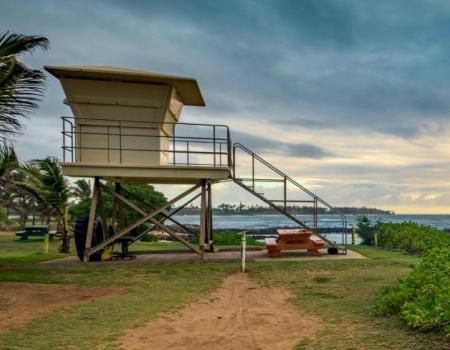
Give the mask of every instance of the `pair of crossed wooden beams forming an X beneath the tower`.
[[[190, 189], [184, 191], [183, 193], [179, 194], [178, 196], [176, 196], [175, 198], [173, 198], [172, 200], [170, 200], [169, 202], [165, 203], [163, 206], [161, 206], [160, 208], [152, 211], [151, 213], [146, 213], [145, 211], [143, 211], [142, 209], [136, 207], [133, 203], [129, 202], [126, 198], [124, 198], [123, 196], [115, 193], [114, 191], [111, 191], [109, 188], [107, 188], [106, 186], [102, 185], [103, 189], [110, 193], [112, 196], [114, 196], [115, 198], [119, 199], [122, 203], [130, 206], [130, 208], [137, 208], [138, 210], [136, 210], [138, 213], [141, 213], [143, 215], [142, 218], [138, 219], [137, 221], [135, 221], [134, 223], [132, 223], [131, 225], [128, 225], [127, 227], [125, 227], [124, 229], [122, 229], [120, 232], [116, 233], [115, 235], [108, 237], [107, 239], [105, 239], [103, 242], [97, 244], [95, 247], [92, 247], [88, 250], [85, 251], [85, 255], [92, 255], [93, 253], [99, 251], [100, 249], [105, 248], [106, 246], [108, 246], [109, 244], [113, 243], [115, 240], [117, 240], [120, 237], [123, 237], [124, 235], [126, 235], [128, 232], [130, 232], [131, 230], [133, 230], [134, 228], [138, 227], [139, 225], [142, 225], [144, 222], [146, 221], [152, 221], [151, 219], [158, 215], [161, 211], [163, 211], [164, 209], [166, 209], [167, 207], [169, 207], [170, 205], [172, 205], [173, 203], [179, 201], [180, 199], [186, 197], [187, 195], [189, 195], [190, 193], [194, 192], [197, 188], [199, 188], [201, 186], [201, 184], [197, 184], [193, 187], [191, 187]], [[155, 220], [156, 221], [156, 220]], [[153, 222], [153, 221], [152, 221]], [[156, 221], [158, 222], [158, 221]], [[153, 222], [155, 223], [155, 222]], [[159, 222], [158, 222], [159, 223]], [[156, 223], [155, 223], [156, 224]], [[159, 223], [161, 224], [161, 223]], [[161, 224], [162, 225], [162, 224]], [[159, 225], [157, 225], [159, 226]]]

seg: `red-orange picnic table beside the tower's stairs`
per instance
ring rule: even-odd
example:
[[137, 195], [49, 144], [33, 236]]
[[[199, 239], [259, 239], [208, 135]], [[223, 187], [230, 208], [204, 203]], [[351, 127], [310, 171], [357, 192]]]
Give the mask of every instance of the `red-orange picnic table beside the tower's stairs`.
[[282, 250], [306, 249], [314, 256], [320, 256], [319, 249], [325, 246], [325, 241], [312, 238], [312, 231], [306, 229], [277, 230], [278, 237], [266, 238], [267, 252], [271, 257], [277, 257]]

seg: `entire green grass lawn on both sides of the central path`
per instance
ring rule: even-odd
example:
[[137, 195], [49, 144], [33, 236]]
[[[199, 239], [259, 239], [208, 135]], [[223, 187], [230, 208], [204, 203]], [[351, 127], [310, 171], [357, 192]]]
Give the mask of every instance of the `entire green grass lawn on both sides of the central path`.
[[[183, 307], [213, 290], [238, 264], [126, 264], [52, 266], [36, 262], [62, 256], [39, 253], [41, 240], [0, 236], [0, 281], [62, 283], [122, 288], [95, 302], [50, 311], [29, 323], [0, 331], [2, 349], [115, 349], [129, 328]], [[176, 247], [176, 245], [175, 245]], [[135, 249], [173, 249], [173, 244], [139, 243]], [[419, 258], [400, 252], [355, 247], [367, 260], [249, 263], [262, 285], [290, 289], [292, 302], [317, 315], [324, 328], [298, 349], [444, 349], [430, 334], [407, 331], [396, 319], [376, 318], [376, 292], [408, 273]], [[8, 301], [0, 299], [0, 309]]]

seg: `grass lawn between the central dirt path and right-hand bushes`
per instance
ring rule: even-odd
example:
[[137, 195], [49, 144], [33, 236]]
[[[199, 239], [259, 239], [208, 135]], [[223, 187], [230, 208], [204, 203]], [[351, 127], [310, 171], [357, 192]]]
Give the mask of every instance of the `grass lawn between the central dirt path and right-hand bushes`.
[[377, 291], [405, 276], [419, 257], [373, 247], [353, 250], [367, 260], [252, 264], [265, 286], [292, 290], [292, 302], [319, 316], [325, 327], [296, 349], [448, 349], [443, 337], [407, 330], [397, 319], [374, 317]]

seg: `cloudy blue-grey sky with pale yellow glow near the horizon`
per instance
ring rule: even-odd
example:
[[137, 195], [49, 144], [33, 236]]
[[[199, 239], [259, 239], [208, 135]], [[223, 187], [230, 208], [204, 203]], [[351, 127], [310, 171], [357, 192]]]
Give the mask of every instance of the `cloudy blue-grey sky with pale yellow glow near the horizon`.
[[[450, 2], [446, 0], [6, 1], [0, 28], [43, 35], [43, 65], [195, 77], [205, 108], [335, 205], [450, 213]], [[21, 160], [61, 157], [70, 115], [48, 76], [17, 138]], [[163, 189], [168, 195], [174, 188]], [[253, 201], [232, 184], [215, 203]]]

